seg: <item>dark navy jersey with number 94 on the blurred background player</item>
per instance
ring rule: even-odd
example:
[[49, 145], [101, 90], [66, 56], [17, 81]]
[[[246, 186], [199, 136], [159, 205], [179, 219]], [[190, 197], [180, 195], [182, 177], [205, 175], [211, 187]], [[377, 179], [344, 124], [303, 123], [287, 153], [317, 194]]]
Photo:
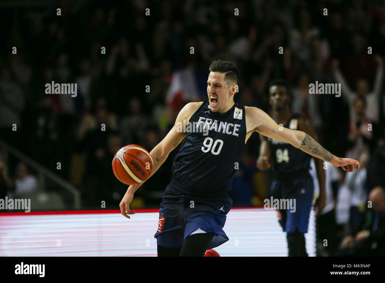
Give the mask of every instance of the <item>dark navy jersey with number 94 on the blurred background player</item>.
[[[301, 114], [294, 114], [283, 126], [297, 130], [298, 118], [300, 117]], [[275, 118], [273, 117], [273, 119]], [[310, 154], [278, 139], [268, 137], [267, 140], [270, 146], [271, 169], [276, 175], [290, 175], [298, 171], [308, 171], [310, 168]]]

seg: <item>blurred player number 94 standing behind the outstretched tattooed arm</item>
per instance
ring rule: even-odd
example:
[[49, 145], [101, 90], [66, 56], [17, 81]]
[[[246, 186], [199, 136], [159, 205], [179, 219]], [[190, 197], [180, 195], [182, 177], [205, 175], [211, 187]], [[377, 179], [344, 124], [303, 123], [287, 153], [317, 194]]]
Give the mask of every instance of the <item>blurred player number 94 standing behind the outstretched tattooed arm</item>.
[[[293, 95], [285, 80], [276, 79], [269, 84], [269, 104], [273, 108], [273, 120], [292, 130], [304, 131], [317, 140], [317, 135], [311, 122], [301, 114], [291, 111], [290, 102]], [[272, 139], [259, 135], [261, 147], [257, 167], [266, 170], [270, 166], [273, 171], [271, 194], [274, 199], [295, 199], [295, 210], [280, 208], [278, 220], [283, 231], [287, 232], [289, 256], [307, 256], [305, 235], [308, 231], [309, 214], [313, 200], [314, 183], [310, 175], [309, 154], [300, 148], [280, 139]], [[270, 163], [271, 161], [271, 163]], [[323, 160], [315, 160], [320, 196], [316, 203], [317, 215], [321, 215], [325, 207], [325, 171]]]

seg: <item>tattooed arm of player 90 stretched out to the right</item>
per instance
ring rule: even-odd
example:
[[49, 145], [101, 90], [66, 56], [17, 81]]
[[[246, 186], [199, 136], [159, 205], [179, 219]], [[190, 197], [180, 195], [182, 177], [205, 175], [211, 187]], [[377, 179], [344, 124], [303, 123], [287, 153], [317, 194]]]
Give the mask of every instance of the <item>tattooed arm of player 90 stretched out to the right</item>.
[[246, 117], [249, 116], [246, 120], [246, 127], [248, 129], [253, 129], [253, 131], [259, 132], [266, 137], [288, 142], [312, 156], [330, 162], [335, 167], [341, 166], [345, 171], [352, 172], [354, 166], [360, 169], [360, 163], [357, 160], [340, 158], [331, 154], [303, 131], [280, 127], [268, 114], [259, 108], [247, 107], [245, 112]]

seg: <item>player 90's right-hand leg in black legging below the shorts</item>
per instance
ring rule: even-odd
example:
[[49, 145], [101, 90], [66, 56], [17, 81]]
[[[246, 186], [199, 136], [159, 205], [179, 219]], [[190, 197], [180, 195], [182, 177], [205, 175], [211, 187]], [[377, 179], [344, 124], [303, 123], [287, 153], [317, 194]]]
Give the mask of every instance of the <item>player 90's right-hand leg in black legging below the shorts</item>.
[[188, 236], [183, 241], [180, 256], [204, 256], [213, 238], [213, 233], [199, 233]]

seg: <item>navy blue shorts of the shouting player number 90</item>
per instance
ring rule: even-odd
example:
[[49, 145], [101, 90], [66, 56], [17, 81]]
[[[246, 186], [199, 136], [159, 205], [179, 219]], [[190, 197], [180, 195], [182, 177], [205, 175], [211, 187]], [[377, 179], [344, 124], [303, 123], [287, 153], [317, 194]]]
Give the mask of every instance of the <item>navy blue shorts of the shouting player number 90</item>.
[[208, 249], [228, 241], [223, 231], [226, 214], [233, 206], [232, 199], [199, 198], [181, 194], [167, 186], [159, 209], [158, 229], [154, 238], [167, 248], [179, 248], [192, 234], [213, 233]]

